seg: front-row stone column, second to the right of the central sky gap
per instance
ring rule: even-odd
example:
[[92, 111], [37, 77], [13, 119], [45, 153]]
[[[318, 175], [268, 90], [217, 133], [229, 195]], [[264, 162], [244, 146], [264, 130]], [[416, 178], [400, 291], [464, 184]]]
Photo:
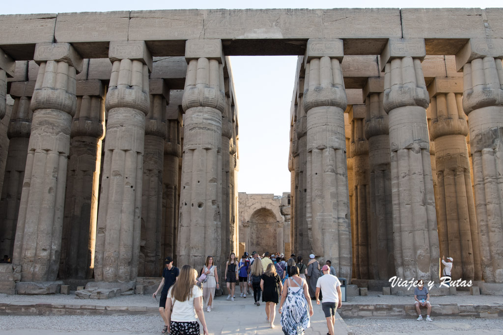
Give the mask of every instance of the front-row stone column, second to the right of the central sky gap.
[[389, 121], [396, 275], [438, 281], [439, 242], [426, 121], [430, 99], [421, 67], [425, 55], [424, 40], [389, 39], [381, 54], [383, 104]]

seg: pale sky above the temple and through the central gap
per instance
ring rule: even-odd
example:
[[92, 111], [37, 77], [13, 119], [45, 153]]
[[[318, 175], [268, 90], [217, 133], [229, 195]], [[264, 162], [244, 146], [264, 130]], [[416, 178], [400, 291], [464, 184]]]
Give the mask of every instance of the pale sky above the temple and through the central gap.
[[[159, 0], [25, 0], [2, 2], [1, 14], [107, 12], [166, 9], [246, 8], [446, 8], [503, 7], [495, 0], [337, 1], [159, 1]], [[296, 57], [232, 57], [232, 73], [239, 108], [239, 192], [290, 191], [288, 171], [289, 117]]]

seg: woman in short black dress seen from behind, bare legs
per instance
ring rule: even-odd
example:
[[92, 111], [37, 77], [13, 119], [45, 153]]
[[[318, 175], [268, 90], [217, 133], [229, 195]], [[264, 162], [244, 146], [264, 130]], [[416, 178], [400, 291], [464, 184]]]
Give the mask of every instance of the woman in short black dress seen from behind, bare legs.
[[267, 266], [266, 272], [260, 280], [262, 289], [262, 301], [266, 303], [266, 319], [274, 328], [274, 317], [276, 316], [276, 304], [279, 302], [280, 292], [283, 290], [281, 279], [276, 273], [276, 267], [273, 263]]

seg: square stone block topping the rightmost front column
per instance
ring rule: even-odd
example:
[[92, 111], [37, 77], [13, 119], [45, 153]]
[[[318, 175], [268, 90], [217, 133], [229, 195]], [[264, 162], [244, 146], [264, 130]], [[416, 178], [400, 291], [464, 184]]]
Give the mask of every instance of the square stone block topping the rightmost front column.
[[503, 39], [471, 38], [456, 54], [456, 69], [461, 71], [466, 63], [485, 57], [503, 58]]

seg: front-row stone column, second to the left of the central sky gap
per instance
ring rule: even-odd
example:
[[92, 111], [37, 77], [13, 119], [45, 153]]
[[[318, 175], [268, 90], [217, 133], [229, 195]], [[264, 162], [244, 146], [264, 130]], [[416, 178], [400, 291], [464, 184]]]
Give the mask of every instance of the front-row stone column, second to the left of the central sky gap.
[[145, 115], [152, 56], [145, 42], [110, 42], [107, 139], [96, 236], [96, 281], [138, 275]]

